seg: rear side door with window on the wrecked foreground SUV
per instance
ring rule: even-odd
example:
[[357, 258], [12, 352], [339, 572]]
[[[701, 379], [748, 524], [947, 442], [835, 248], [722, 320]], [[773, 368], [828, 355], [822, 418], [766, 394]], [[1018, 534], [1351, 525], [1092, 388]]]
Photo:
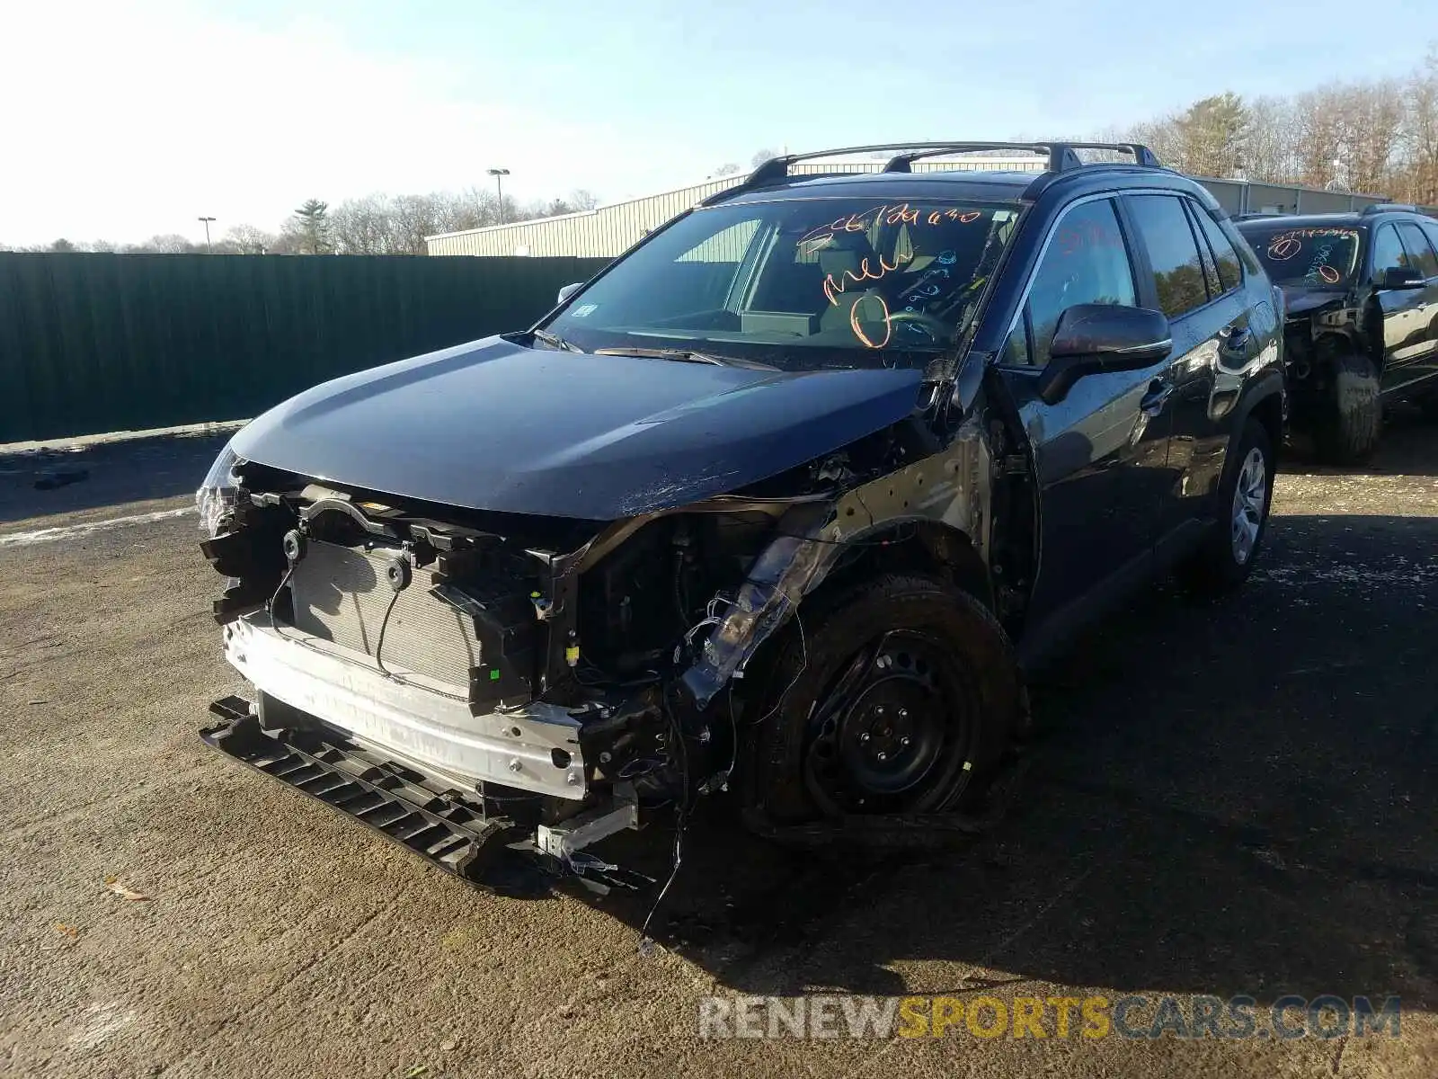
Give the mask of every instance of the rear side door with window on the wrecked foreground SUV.
[[1241, 370], [1257, 342], [1238, 253], [1208, 210], [1178, 194], [1133, 194], [1122, 204], [1148, 256], [1145, 302], [1168, 315], [1173, 332], [1150, 400], [1166, 394], [1173, 416], [1158, 542], [1160, 554], [1181, 554], [1215, 509], [1232, 406], [1219, 393], [1221, 374]]

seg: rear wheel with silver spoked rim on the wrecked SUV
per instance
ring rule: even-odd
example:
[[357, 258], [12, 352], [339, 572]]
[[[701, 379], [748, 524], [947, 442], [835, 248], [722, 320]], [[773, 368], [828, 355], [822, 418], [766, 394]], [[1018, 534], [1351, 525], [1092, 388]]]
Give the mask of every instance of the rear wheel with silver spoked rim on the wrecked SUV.
[[1218, 521], [1178, 577], [1195, 596], [1222, 596], [1248, 580], [1268, 531], [1274, 453], [1268, 430], [1250, 419], [1228, 452], [1215, 495]]

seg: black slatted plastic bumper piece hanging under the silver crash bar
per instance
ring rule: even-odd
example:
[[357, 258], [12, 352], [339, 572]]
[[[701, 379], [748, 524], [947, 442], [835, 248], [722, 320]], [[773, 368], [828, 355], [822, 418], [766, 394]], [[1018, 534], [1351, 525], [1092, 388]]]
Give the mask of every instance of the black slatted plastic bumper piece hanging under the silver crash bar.
[[610, 865], [581, 847], [638, 826], [638, 809], [620, 801], [568, 824], [538, 830], [499, 814], [490, 800], [384, 758], [325, 728], [265, 729], [249, 701], [210, 705], [220, 719], [206, 744], [374, 829], [447, 873], [509, 895], [535, 895], [564, 875], [597, 891], [640, 889], [653, 878]]

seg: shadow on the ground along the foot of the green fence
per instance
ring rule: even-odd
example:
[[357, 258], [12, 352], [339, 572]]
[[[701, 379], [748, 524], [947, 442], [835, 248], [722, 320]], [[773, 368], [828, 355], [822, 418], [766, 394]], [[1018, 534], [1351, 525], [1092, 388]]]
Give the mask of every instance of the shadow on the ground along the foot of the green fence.
[[193, 495], [229, 440], [224, 432], [0, 455], [0, 524]]

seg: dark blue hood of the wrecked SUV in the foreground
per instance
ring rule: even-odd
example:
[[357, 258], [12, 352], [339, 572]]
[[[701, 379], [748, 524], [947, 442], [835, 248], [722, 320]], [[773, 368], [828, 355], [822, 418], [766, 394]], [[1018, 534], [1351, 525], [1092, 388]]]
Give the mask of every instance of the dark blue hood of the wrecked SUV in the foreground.
[[532, 350], [506, 338], [306, 390], [246, 460], [427, 502], [590, 521], [686, 505], [909, 416], [922, 373], [787, 373]]

